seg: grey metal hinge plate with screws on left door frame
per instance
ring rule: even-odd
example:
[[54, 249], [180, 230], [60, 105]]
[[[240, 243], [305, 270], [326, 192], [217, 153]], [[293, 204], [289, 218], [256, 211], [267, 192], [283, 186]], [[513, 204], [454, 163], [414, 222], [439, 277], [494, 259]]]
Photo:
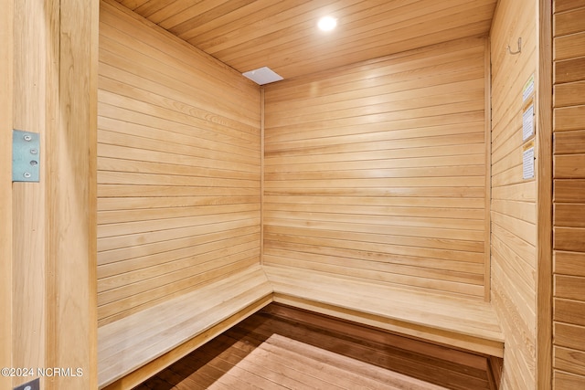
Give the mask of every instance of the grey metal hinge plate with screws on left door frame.
[[40, 136], [37, 132], [12, 132], [12, 181], [38, 182]]

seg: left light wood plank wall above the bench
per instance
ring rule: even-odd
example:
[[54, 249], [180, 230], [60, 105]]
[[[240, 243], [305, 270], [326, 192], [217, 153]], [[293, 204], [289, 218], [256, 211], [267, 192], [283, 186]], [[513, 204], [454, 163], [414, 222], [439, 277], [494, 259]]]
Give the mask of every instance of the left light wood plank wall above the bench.
[[260, 88], [102, 1], [98, 315], [260, 262]]

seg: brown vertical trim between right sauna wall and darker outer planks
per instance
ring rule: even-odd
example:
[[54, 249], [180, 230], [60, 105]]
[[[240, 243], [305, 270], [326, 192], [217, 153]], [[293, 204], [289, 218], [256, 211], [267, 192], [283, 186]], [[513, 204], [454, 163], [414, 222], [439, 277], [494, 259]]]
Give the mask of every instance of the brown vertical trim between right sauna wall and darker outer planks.
[[537, 14], [537, 389], [552, 381], [552, 9]]

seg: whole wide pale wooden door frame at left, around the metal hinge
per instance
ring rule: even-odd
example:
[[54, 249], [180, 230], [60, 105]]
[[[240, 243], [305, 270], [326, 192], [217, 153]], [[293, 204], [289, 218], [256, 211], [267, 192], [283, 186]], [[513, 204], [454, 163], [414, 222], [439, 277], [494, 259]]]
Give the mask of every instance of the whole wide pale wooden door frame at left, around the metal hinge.
[[[5, 282], [12, 287], [3, 312], [12, 313], [3, 315], [0, 327], [3, 338], [5, 326], [12, 328], [12, 345], [3, 341], [0, 348], [11, 355], [3, 367], [27, 367], [32, 374], [16, 371], [2, 387], [41, 376], [43, 389], [96, 388], [99, 2], [90, 0], [82, 7], [76, 0], [11, 3], [2, 3], [3, 13], [13, 18], [7, 25], [3, 20], [2, 37], [5, 27], [14, 26], [0, 56], [12, 62], [2, 64], [3, 83], [4, 72], [12, 70], [12, 86], [0, 90], [12, 90], [2, 100], [3, 106], [12, 105], [10, 110], [3, 107], [2, 114], [11, 112], [12, 117], [3, 117], [2, 132], [11, 132], [4, 128], [10, 121], [15, 129], [39, 134], [40, 180], [8, 184], [6, 189], [12, 205], [11, 212], [3, 210], [2, 219], [4, 224], [12, 214], [12, 232], [0, 240], [12, 250], [3, 250], [0, 261], [3, 272], [6, 264], [12, 272], [8, 278], [1, 274], [3, 289]], [[3, 158], [11, 155], [4, 148], [12, 143], [4, 141]], [[3, 162], [3, 171], [10, 165]], [[52, 367], [71, 371], [39, 373]]]

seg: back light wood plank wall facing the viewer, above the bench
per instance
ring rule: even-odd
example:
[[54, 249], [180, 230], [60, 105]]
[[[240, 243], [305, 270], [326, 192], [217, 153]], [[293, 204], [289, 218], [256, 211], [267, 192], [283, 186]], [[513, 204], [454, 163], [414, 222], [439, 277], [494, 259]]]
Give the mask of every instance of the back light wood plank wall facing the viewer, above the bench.
[[264, 263], [483, 299], [485, 45], [268, 85]]

